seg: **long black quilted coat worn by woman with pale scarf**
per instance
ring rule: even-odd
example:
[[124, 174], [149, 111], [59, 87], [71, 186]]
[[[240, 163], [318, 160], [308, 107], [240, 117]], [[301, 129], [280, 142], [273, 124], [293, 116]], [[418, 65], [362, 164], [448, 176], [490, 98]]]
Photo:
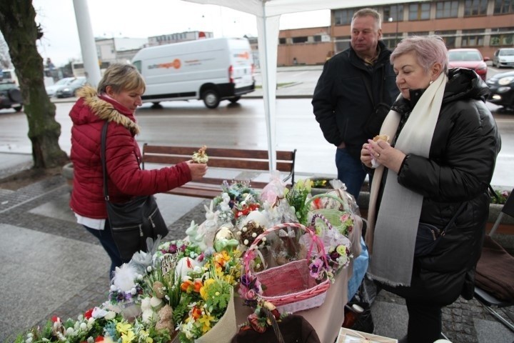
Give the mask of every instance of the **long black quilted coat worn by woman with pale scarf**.
[[[483, 101], [488, 94], [485, 83], [469, 69], [450, 69], [448, 80], [429, 158], [409, 154], [398, 182], [423, 195], [420, 222], [443, 228], [463, 202], [465, 208], [435, 250], [415, 259], [411, 286], [390, 289], [441, 306], [460, 294], [473, 296], [474, 268], [489, 212], [488, 184], [501, 145]], [[412, 101], [419, 99], [420, 94], [411, 94]], [[410, 102], [401, 99], [393, 109], [405, 120]]]

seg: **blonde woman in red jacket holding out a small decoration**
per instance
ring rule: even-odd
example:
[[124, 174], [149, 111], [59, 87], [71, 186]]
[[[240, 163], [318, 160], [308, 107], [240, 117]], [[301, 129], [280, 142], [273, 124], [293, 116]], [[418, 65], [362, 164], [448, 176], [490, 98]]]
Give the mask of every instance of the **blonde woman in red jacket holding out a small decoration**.
[[106, 166], [111, 202], [123, 203], [135, 196], [166, 192], [206, 174], [206, 164], [182, 162], [162, 169], [141, 170], [139, 133], [134, 112], [141, 106], [145, 83], [129, 64], [111, 64], [100, 80], [98, 91], [85, 86], [70, 111], [71, 161], [74, 187], [70, 207], [77, 222], [94, 234], [111, 257], [110, 275], [122, 261], [111, 235], [104, 199], [100, 158], [101, 129], [109, 121]]

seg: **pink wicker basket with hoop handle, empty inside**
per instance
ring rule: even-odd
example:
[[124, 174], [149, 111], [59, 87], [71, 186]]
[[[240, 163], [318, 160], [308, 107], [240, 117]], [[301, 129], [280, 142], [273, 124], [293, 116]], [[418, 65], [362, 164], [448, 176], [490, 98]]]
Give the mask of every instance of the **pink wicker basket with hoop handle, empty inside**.
[[[286, 229], [288, 227], [296, 227], [302, 229], [307, 234], [311, 235], [312, 242], [306, 259], [300, 259], [293, 262], [288, 262], [279, 267], [266, 269], [263, 272], [253, 274], [250, 268], [251, 257], [253, 251], [258, 249], [258, 244], [263, 237], [267, 234], [279, 229]], [[260, 234], [248, 248], [243, 256], [243, 269], [248, 279], [256, 278], [258, 282], [266, 286], [266, 290], [259, 296], [261, 299], [271, 302], [276, 307], [284, 309], [284, 305], [296, 304], [287, 307], [291, 312], [301, 311], [303, 309], [310, 309], [318, 307], [325, 301], [325, 296], [331, 282], [325, 277], [321, 282], [316, 282], [316, 279], [309, 274], [309, 264], [311, 263], [311, 252], [313, 252], [313, 245], [317, 245], [317, 252], [324, 252], [323, 244], [316, 237], [312, 229], [298, 223], [278, 224], [274, 227], [266, 229], [265, 232]], [[321, 254], [323, 263], [328, 266], [328, 261], [324, 254]], [[253, 300], [253, 299], [248, 299]]]

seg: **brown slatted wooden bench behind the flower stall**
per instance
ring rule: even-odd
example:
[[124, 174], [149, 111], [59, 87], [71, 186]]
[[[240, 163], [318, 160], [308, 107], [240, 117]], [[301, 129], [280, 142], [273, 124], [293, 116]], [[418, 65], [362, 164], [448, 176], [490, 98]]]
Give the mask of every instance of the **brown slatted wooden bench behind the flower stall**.
[[[145, 164], [174, 165], [182, 161], [188, 161], [198, 147], [190, 146], [155, 146], [143, 145], [143, 169]], [[221, 149], [207, 148], [209, 171], [221, 171], [221, 174], [229, 170], [241, 172], [237, 177], [203, 177], [203, 179], [188, 182], [182, 187], [171, 189], [166, 193], [185, 195], [188, 197], [199, 197], [213, 199], [221, 194], [221, 184], [224, 180], [248, 180], [249, 171], [269, 173], [269, 160], [267, 150], [243, 150], [243, 149]], [[296, 149], [293, 151], [276, 151], [276, 170], [287, 174], [282, 179], [288, 184], [294, 183], [294, 165]], [[246, 173], [245, 173], [246, 172]], [[209, 172], [208, 172], [209, 173]], [[246, 174], [246, 176], [245, 176]], [[251, 179], [250, 179], [251, 181]], [[262, 189], [268, 182], [253, 182], [251, 187]]]

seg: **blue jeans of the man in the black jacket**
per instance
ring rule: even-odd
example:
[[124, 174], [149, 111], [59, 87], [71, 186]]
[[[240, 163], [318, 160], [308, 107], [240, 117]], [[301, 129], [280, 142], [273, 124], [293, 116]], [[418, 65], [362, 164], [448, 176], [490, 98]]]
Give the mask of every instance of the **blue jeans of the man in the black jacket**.
[[336, 149], [336, 166], [338, 179], [346, 185], [346, 192], [352, 194], [357, 200], [366, 179], [366, 170], [362, 162], [350, 156], [347, 149]]

